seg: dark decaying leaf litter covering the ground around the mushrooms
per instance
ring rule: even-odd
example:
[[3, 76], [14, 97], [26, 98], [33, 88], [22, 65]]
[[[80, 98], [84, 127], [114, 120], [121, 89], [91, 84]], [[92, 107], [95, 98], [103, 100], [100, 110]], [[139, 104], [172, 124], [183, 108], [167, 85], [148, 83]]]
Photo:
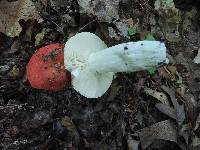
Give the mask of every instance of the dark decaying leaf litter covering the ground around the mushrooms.
[[[0, 0], [0, 149], [199, 149], [199, 10], [198, 0]], [[98, 99], [32, 88], [35, 50], [83, 31], [108, 46], [163, 41], [170, 64], [117, 74]]]

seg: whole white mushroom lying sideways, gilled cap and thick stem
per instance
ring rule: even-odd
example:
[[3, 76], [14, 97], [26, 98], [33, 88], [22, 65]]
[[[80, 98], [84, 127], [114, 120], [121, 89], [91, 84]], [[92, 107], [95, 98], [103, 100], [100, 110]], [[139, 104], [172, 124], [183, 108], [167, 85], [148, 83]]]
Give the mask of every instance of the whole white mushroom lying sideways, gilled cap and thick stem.
[[138, 41], [107, 48], [90, 32], [71, 37], [64, 47], [64, 64], [73, 76], [73, 88], [87, 98], [98, 98], [110, 87], [115, 73], [134, 72], [167, 63], [160, 41]]

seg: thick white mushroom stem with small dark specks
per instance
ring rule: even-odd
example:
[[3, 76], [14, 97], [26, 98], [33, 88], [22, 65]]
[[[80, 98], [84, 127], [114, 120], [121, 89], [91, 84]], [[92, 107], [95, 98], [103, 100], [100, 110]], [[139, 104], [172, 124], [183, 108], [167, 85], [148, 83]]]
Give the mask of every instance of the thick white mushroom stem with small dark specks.
[[134, 72], [168, 63], [166, 47], [160, 41], [138, 41], [118, 44], [89, 56], [91, 72]]

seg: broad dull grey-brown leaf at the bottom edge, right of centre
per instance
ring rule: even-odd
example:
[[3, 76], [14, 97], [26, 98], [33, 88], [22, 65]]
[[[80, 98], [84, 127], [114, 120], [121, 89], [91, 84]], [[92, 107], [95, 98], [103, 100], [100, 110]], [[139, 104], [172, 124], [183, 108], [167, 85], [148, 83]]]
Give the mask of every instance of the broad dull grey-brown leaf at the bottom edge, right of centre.
[[165, 120], [143, 128], [139, 132], [141, 146], [146, 149], [154, 140], [167, 140], [177, 143], [177, 130], [170, 120]]

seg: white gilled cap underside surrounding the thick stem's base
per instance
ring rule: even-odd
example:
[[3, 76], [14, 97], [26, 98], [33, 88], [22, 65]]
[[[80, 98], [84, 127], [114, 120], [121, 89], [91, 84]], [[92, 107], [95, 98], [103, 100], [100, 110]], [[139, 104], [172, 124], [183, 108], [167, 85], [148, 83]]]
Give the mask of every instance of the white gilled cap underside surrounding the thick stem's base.
[[114, 73], [91, 72], [87, 65], [91, 53], [105, 48], [106, 44], [90, 32], [78, 33], [65, 44], [64, 63], [74, 76], [73, 88], [87, 98], [102, 96], [112, 83]]

